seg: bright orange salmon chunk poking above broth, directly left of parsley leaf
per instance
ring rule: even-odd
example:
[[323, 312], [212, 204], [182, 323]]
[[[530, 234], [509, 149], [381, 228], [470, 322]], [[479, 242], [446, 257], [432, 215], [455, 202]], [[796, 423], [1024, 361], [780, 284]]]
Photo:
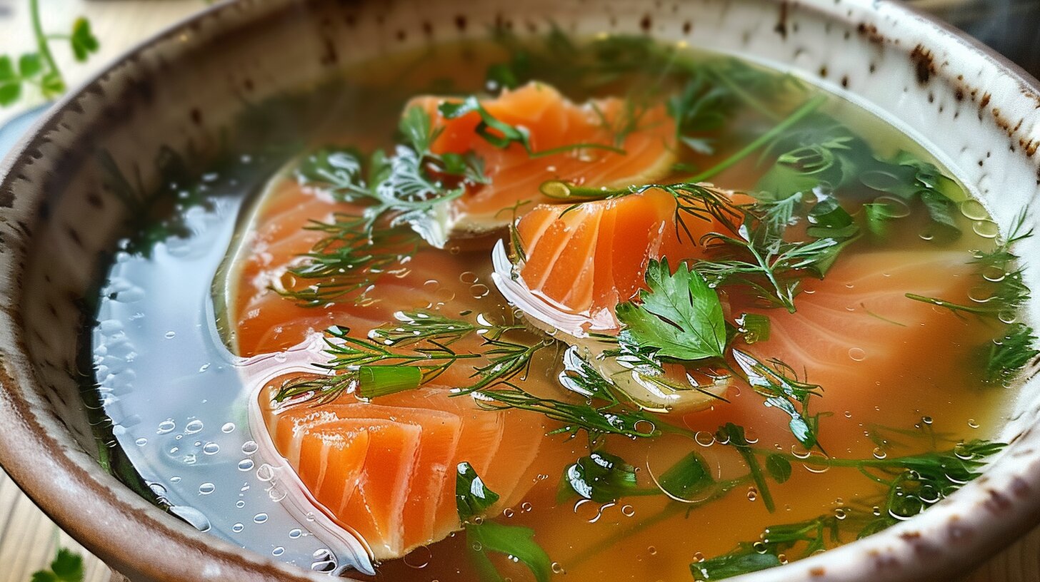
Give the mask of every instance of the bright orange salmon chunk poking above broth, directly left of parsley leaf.
[[[746, 202], [744, 195], [731, 195]], [[564, 320], [581, 321], [582, 329], [573, 335], [616, 330], [615, 307], [646, 288], [651, 259], [668, 257], [675, 265], [697, 258], [703, 252], [701, 237], [724, 231], [716, 219], [684, 215], [687, 233], [676, 223], [676, 204], [671, 194], [650, 189], [576, 206], [535, 207], [517, 222], [522, 286]]]

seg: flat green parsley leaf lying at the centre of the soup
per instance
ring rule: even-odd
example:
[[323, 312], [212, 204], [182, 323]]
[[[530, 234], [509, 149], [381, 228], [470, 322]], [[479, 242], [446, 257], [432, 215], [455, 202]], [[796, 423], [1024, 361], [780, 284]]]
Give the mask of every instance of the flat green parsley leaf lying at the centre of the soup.
[[704, 279], [679, 263], [671, 272], [668, 259], [650, 261], [649, 291], [640, 291], [640, 303], [618, 305], [624, 324], [621, 340], [652, 347], [657, 355], [694, 361], [721, 358], [726, 348], [722, 303]]

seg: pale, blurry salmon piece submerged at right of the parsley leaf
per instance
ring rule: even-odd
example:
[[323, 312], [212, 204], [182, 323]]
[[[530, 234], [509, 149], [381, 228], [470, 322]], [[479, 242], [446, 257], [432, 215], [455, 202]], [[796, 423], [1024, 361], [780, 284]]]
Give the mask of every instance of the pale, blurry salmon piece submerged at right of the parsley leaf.
[[[870, 427], [861, 419], [881, 415], [888, 426], [919, 423], [926, 413], [915, 391], [943, 390], [934, 378], [962, 369], [961, 341], [984, 324], [906, 293], [968, 302], [968, 289], [977, 283], [972, 272], [966, 254], [958, 250], [850, 253], [824, 280], [805, 280], [795, 313], [731, 298], [734, 313], [759, 313], [771, 321], [769, 340], [734, 347], [763, 363], [780, 360], [799, 378], [820, 385], [824, 397], [811, 398], [810, 412], [833, 413], [822, 423], [821, 444], [841, 456], [868, 457], [874, 444], [863, 433]], [[963, 378], [950, 378], [952, 386], [958, 381]], [[879, 391], [890, 396], [879, 400]], [[786, 417], [763, 406], [761, 396], [742, 390], [727, 397], [729, 404], [684, 417], [686, 426], [713, 431], [722, 422], [735, 422], [754, 427], [763, 443], [795, 444]], [[847, 450], [853, 446], [860, 449]]]

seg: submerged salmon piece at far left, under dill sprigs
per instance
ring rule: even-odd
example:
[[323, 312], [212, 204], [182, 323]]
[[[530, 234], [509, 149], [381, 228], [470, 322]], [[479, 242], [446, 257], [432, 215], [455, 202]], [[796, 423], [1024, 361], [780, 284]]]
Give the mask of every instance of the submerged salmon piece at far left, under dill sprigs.
[[[437, 311], [448, 300], [472, 298], [472, 308], [489, 317], [505, 317], [504, 307], [489, 299], [473, 298], [473, 286], [484, 285], [485, 293], [493, 288], [487, 250], [461, 250], [452, 255], [421, 245], [411, 257], [373, 273], [370, 289], [330, 301], [319, 307], [304, 307], [272, 289], [303, 289], [311, 282], [294, 280], [287, 271], [300, 263], [323, 233], [305, 230], [312, 221], [329, 222], [334, 213], [358, 214], [360, 209], [335, 202], [283, 180], [258, 203], [251, 232], [225, 267], [224, 298], [228, 313], [229, 347], [241, 356], [275, 353], [301, 345], [332, 325], [347, 325], [350, 335], [365, 338], [368, 332], [395, 321], [395, 313], [409, 310]], [[415, 242], [408, 245], [415, 247]], [[458, 274], [471, 272], [462, 281]], [[454, 300], [459, 303], [459, 300]], [[458, 313], [445, 313], [456, 317]], [[482, 340], [468, 338], [453, 344], [459, 351], [475, 349]], [[449, 386], [464, 386], [483, 360], [469, 360], [452, 366], [441, 376]]]

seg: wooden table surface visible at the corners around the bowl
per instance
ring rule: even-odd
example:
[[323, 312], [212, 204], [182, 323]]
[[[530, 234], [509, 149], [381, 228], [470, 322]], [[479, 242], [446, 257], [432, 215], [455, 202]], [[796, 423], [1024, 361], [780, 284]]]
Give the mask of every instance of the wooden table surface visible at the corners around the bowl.
[[[941, 0], [952, 1], [957, 0]], [[34, 50], [27, 3], [0, 0], [0, 54]], [[55, 47], [55, 58], [70, 86], [141, 39], [207, 5], [204, 0], [41, 0], [41, 4], [45, 30], [66, 30], [77, 16], [86, 16], [101, 39], [101, 50], [86, 63], [76, 62], [67, 47]], [[36, 96], [29, 97], [19, 106], [0, 108], [0, 125], [40, 103]], [[47, 566], [59, 547], [82, 553], [86, 582], [108, 580], [109, 570], [47, 519], [0, 471], [0, 582], [28, 582], [33, 572]], [[1002, 554], [978, 571], [965, 572], [963, 582], [1040, 582], [1040, 528], [1022, 539], [1009, 541]]]

